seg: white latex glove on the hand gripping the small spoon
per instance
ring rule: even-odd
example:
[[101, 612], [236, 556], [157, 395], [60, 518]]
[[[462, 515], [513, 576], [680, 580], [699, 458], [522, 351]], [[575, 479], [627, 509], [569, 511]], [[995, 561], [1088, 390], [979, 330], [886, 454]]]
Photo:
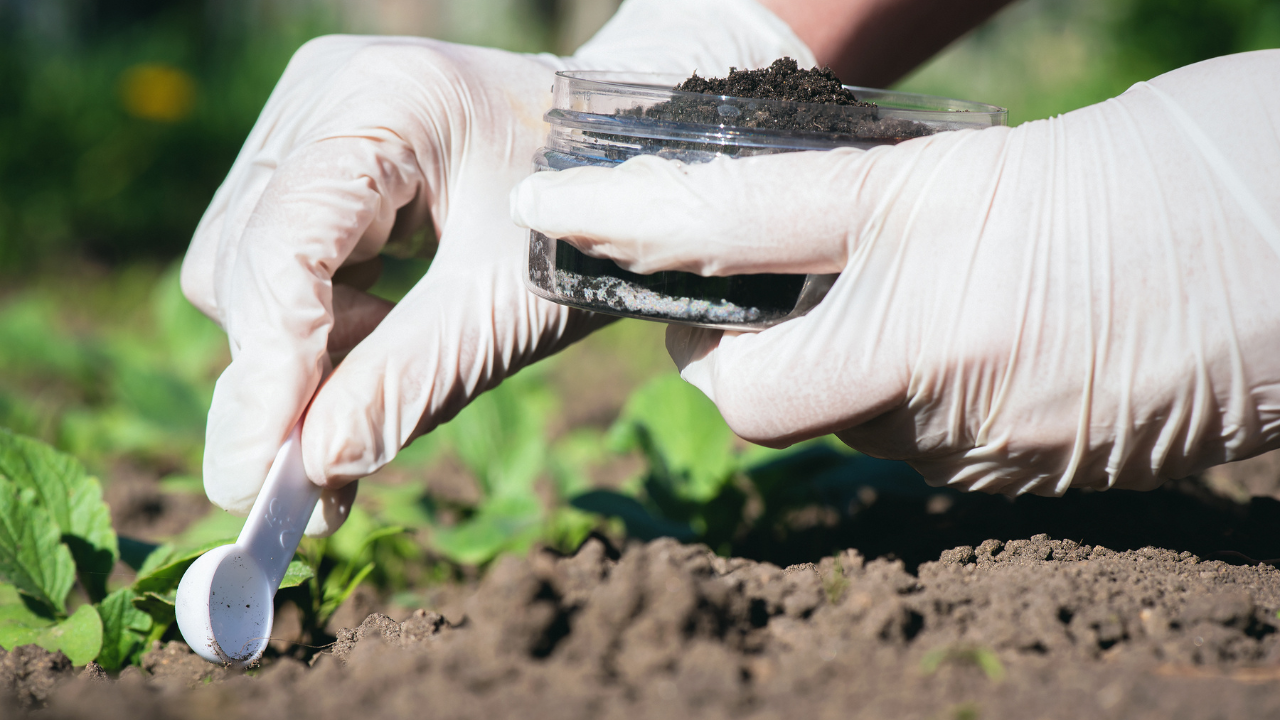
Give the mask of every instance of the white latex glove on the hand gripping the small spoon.
[[[210, 500], [246, 514], [310, 401], [303, 460], [329, 491], [307, 533], [332, 532], [352, 480], [602, 324], [525, 290], [527, 233], [507, 210], [547, 136], [556, 70], [709, 74], [782, 55], [813, 63], [753, 0], [628, 0], [568, 59], [408, 37], [298, 50], [182, 268], [232, 346], [209, 413]], [[439, 250], [404, 300], [362, 292], [376, 277], [366, 263], [429, 225]], [[334, 284], [339, 269], [356, 287]]]

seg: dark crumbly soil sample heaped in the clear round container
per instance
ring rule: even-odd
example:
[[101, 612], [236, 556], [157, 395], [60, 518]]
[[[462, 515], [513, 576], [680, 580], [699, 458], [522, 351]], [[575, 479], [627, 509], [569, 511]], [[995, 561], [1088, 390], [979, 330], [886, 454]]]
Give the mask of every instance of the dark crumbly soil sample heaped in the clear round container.
[[[722, 155], [869, 147], [938, 131], [860, 100], [829, 68], [801, 69], [791, 58], [759, 70], [732, 69], [723, 78], [694, 73], [658, 102], [652, 91], [637, 94], [634, 106], [626, 104], [625, 95], [620, 97], [625, 109], [573, 119], [577, 124], [570, 127], [577, 127], [577, 137], [585, 142], [568, 138], [557, 145], [557, 133], [563, 131], [557, 128], [553, 111], [552, 136], [548, 147], [539, 151], [539, 169], [612, 165], [636, 155], [701, 163]], [[570, 110], [572, 102], [561, 109]], [[534, 292], [561, 304], [625, 316], [763, 329], [803, 315], [822, 300], [833, 281], [835, 275], [639, 275], [566, 242], [530, 234], [529, 283]]]

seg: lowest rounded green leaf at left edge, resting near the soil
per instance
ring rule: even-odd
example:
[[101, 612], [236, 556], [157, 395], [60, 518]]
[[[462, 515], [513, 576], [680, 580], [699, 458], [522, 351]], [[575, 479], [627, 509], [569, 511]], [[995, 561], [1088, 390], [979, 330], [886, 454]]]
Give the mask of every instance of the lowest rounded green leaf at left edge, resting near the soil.
[[55, 623], [23, 602], [18, 589], [0, 583], [0, 647], [37, 644], [61, 651], [74, 665], [84, 665], [102, 648], [102, 620], [92, 605], [82, 605], [70, 618]]

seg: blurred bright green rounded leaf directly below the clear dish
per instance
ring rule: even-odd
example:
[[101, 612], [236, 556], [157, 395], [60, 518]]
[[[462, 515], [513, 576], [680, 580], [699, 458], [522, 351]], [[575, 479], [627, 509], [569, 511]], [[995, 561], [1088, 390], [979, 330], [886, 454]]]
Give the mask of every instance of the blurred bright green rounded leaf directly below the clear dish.
[[707, 502], [733, 478], [733, 432], [716, 405], [677, 374], [637, 389], [609, 430], [617, 450], [639, 447], [652, 473], [686, 502]]

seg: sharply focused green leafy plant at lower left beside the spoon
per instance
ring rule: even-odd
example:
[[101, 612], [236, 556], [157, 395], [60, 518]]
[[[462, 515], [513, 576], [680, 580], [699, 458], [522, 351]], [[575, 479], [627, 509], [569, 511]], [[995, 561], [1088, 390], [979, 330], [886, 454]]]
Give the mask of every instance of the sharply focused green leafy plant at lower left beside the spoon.
[[[210, 547], [120, 542], [97, 478], [78, 460], [0, 430], [0, 647], [38, 644], [108, 670], [137, 662], [174, 623], [183, 571]], [[115, 589], [116, 560], [137, 569]], [[312, 577], [289, 565], [282, 587]]]

